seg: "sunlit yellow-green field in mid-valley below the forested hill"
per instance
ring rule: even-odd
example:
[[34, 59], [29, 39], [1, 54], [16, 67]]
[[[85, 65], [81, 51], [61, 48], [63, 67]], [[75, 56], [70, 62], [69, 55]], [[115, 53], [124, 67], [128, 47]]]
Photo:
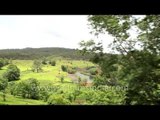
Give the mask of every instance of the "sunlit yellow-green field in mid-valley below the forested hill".
[[[13, 64], [17, 65], [17, 67], [21, 71], [20, 80], [26, 80], [28, 78], [36, 78], [42, 84], [59, 83], [60, 82], [59, 77], [61, 75], [64, 76], [64, 82], [71, 82], [71, 79], [68, 77], [68, 73], [63, 72], [61, 70], [61, 65], [68, 65], [78, 68], [86, 68], [94, 65], [91, 62], [87, 61], [72, 60], [71, 62], [72, 64], [70, 64], [68, 60], [61, 60], [56, 62], [56, 66], [43, 65], [42, 67], [43, 71], [40, 73], [35, 73], [31, 71], [31, 67], [33, 64], [32, 60], [14, 60]], [[3, 69], [4, 70], [2, 71], [2, 73], [5, 71], [6, 67], [4, 67]]]

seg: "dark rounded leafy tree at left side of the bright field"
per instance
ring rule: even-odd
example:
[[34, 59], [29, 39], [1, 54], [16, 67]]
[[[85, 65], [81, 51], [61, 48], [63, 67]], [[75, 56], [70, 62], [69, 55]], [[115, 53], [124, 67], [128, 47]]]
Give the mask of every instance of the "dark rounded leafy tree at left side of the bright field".
[[20, 69], [16, 65], [9, 65], [6, 73], [4, 73], [4, 78], [8, 79], [8, 81], [14, 81], [20, 79]]

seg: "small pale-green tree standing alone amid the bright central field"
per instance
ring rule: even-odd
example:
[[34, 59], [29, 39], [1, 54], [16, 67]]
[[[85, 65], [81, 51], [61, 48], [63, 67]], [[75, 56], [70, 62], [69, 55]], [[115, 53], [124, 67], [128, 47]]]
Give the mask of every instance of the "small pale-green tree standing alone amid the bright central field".
[[33, 65], [32, 65], [32, 69], [33, 69], [34, 72], [37, 72], [37, 73], [42, 71], [42, 63], [41, 63], [41, 61], [35, 60], [33, 62]]

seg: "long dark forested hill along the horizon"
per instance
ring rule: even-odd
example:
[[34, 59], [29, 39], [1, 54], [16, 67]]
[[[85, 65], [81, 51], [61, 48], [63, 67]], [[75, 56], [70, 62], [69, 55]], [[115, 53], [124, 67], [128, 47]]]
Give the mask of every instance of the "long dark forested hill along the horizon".
[[24, 48], [24, 49], [2, 49], [0, 58], [7, 59], [39, 59], [42, 57], [64, 57], [71, 59], [89, 59], [90, 56], [82, 56], [76, 49], [69, 48]]

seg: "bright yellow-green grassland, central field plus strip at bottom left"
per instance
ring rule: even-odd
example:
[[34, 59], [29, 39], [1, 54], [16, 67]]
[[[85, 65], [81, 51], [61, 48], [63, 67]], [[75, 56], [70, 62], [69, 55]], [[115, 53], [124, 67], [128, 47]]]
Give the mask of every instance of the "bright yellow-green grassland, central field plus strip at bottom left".
[[[49, 64], [42, 66], [41, 72], [33, 72], [32, 65], [33, 60], [13, 60], [12, 64], [16, 65], [20, 69], [20, 80], [17, 80], [16, 83], [21, 81], [25, 81], [29, 78], [35, 78], [38, 80], [41, 86], [59, 86], [60, 90], [64, 92], [70, 92], [68, 87], [77, 87], [77, 84], [73, 83], [73, 79], [69, 77], [67, 72], [63, 72], [61, 70], [61, 65], [72, 66], [78, 69], [85, 69], [90, 66], [94, 66], [91, 62], [82, 61], [82, 60], [60, 60], [56, 61], [56, 66], [51, 66]], [[2, 67], [0, 70], [0, 76], [7, 70], [8, 66]], [[64, 76], [64, 82], [61, 83], [60, 76]], [[41, 105], [47, 104], [42, 100], [32, 100], [32, 99], [23, 99], [18, 96], [10, 95], [10, 93], [6, 94], [6, 101], [4, 102], [2, 99], [2, 93], [0, 93], [0, 104], [7, 105]]]

